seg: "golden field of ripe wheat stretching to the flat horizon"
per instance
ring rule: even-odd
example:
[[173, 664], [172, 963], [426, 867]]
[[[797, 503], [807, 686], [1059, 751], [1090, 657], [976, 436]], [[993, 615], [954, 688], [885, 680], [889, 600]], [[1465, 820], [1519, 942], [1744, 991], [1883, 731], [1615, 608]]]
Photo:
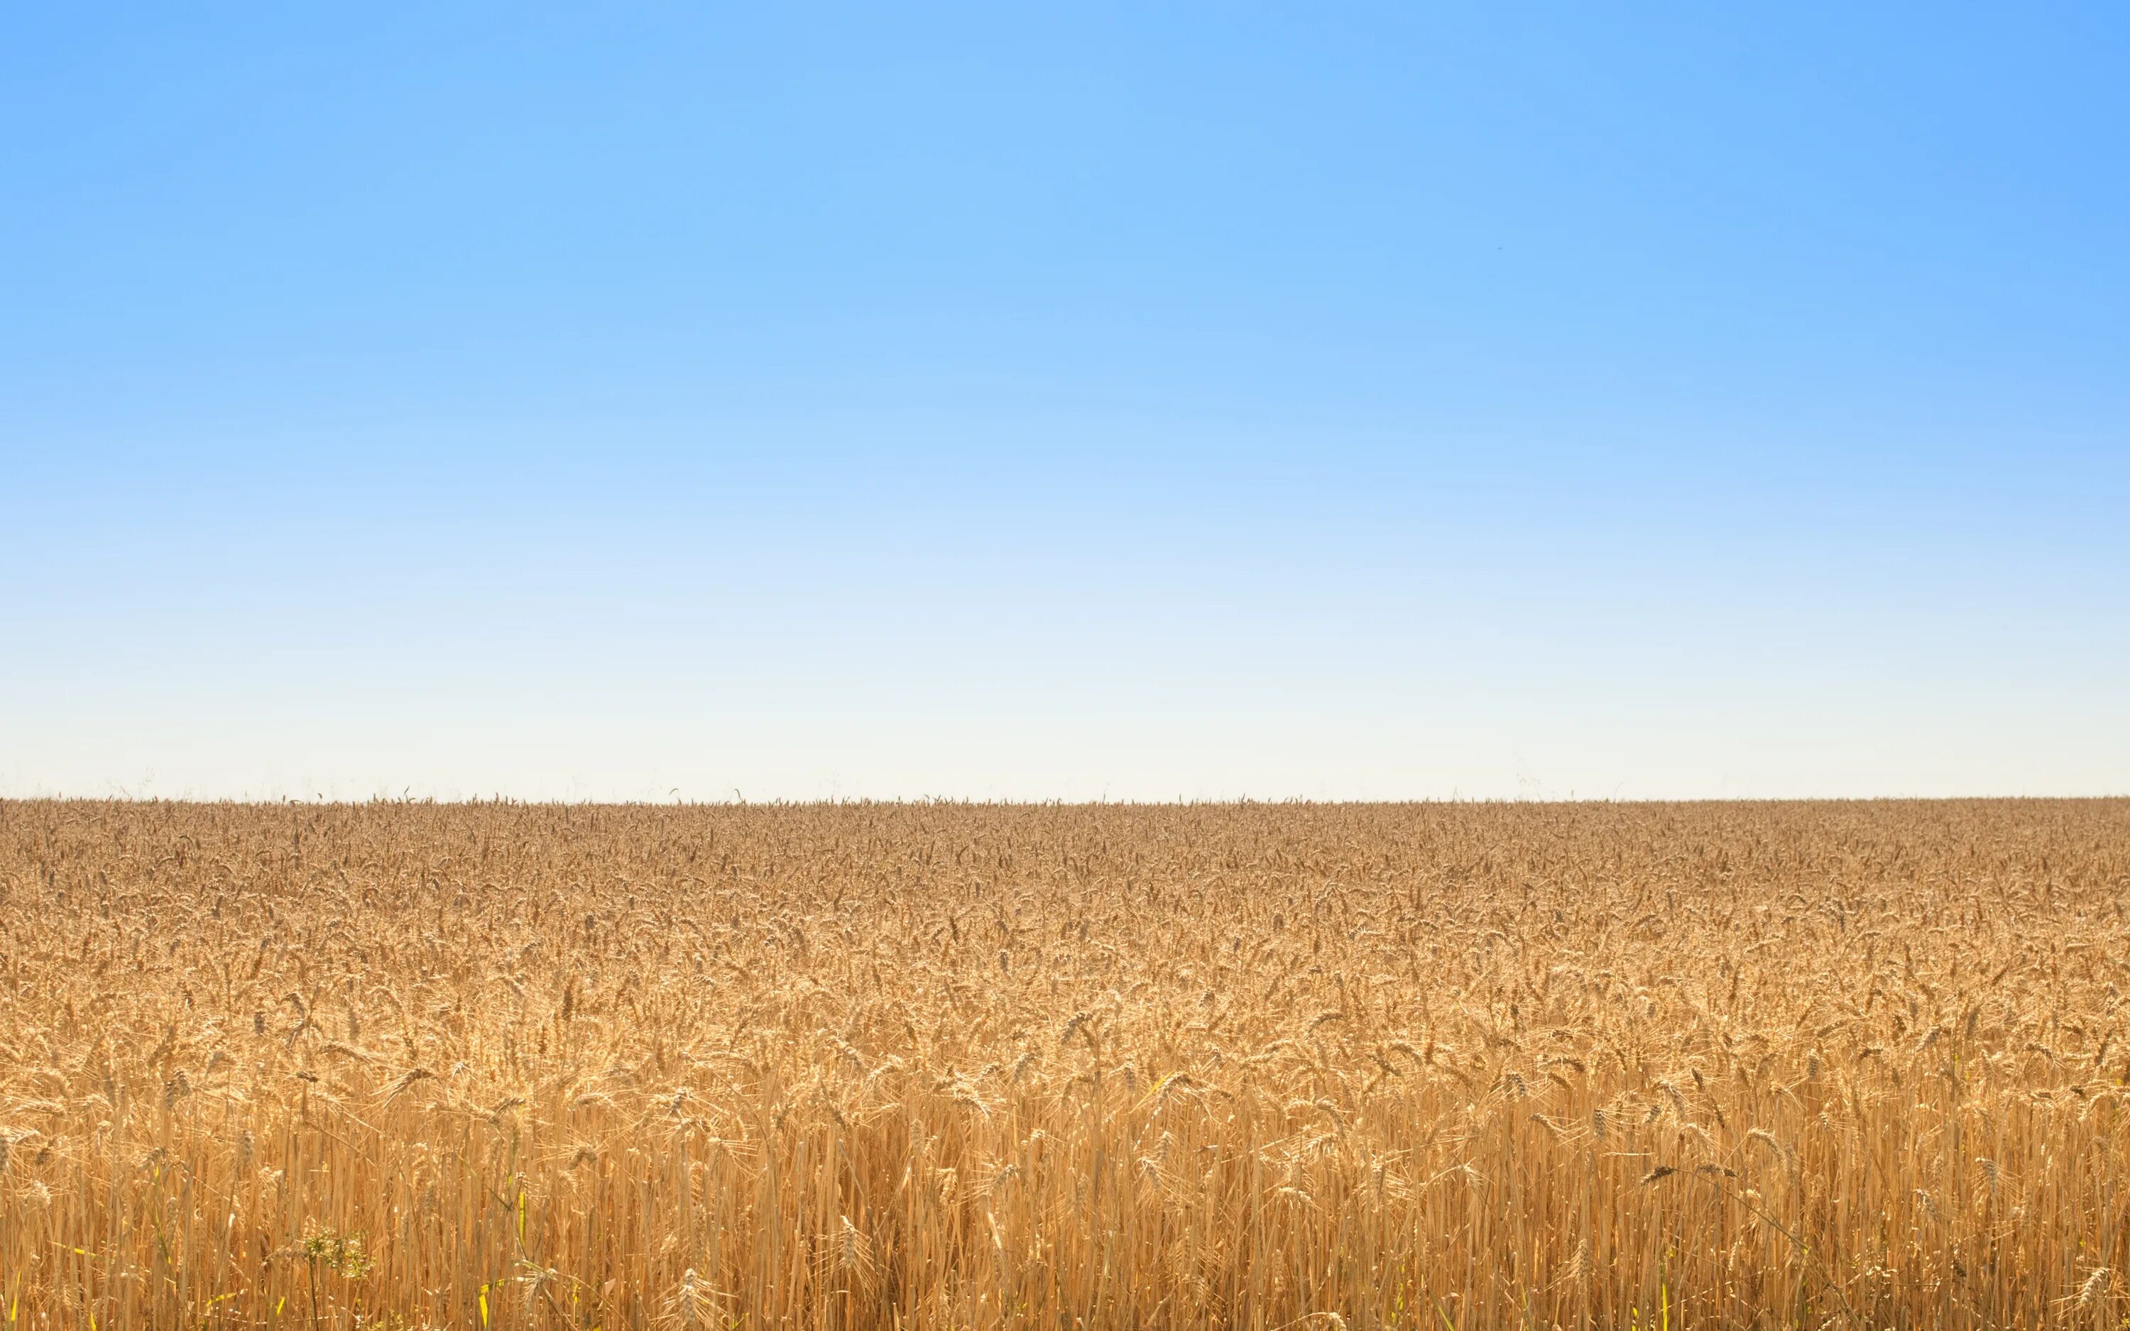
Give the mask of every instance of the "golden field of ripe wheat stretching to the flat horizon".
[[15, 1327], [2117, 1327], [2130, 803], [0, 803]]

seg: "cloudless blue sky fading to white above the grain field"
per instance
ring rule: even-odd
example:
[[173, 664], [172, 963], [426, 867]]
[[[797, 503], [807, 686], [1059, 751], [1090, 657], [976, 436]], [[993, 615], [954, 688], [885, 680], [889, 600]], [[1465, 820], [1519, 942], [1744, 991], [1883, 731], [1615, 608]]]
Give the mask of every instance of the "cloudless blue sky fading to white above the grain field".
[[2126, 70], [9, 6], [0, 794], [2130, 792]]

